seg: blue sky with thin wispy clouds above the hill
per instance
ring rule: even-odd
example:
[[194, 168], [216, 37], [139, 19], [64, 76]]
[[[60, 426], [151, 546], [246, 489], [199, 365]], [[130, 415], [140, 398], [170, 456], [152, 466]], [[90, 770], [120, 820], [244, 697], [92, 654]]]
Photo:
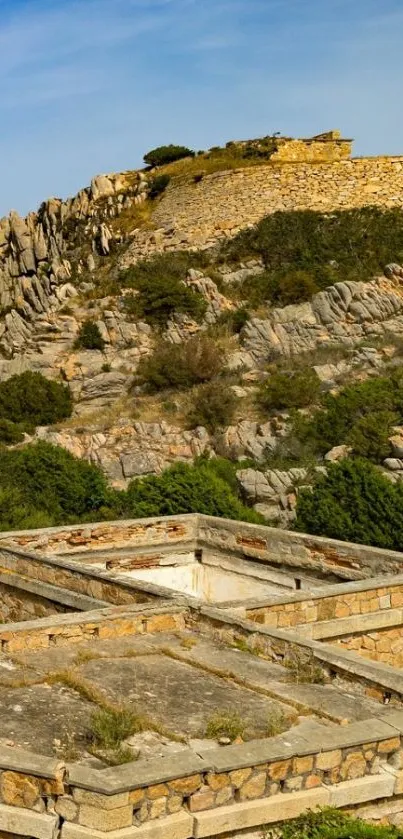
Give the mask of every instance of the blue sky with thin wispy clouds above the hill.
[[0, 0], [0, 216], [162, 143], [403, 154], [402, 71], [402, 0]]

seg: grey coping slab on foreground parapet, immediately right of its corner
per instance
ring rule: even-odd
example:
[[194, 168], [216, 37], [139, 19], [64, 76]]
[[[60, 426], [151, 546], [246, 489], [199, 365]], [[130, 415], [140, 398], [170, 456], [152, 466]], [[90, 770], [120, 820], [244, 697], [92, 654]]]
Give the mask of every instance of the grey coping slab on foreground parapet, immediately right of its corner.
[[203, 759], [189, 749], [169, 757], [133, 761], [115, 769], [97, 771], [72, 765], [68, 768], [68, 782], [73, 787], [100, 792], [103, 795], [116, 795], [129, 789], [139, 789], [200, 772], [209, 772], [212, 768], [208, 755]]

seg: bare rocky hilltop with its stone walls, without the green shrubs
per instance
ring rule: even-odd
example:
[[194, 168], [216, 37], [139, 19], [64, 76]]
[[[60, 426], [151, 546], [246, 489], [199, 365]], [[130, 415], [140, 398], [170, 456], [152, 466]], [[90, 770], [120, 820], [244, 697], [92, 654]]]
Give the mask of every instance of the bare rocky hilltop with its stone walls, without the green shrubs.
[[[252, 461], [239, 472], [249, 502], [288, 521], [294, 489], [307, 472], [298, 465], [291, 472], [268, 468], [267, 455], [289, 422], [287, 411], [265, 415], [256, 405], [268, 365], [309, 356], [325, 391], [379, 374], [399, 352], [403, 270], [394, 246], [365, 279], [359, 271], [344, 278], [337, 259], [329, 260], [335, 281], [326, 287], [305, 289], [302, 299], [284, 305], [281, 295], [278, 302], [268, 299], [262, 286], [251, 305], [245, 289], [258, 288], [267, 259], [256, 248], [231, 250], [231, 243], [274, 213], [399, 212], [403, 159], [351, 159], [349, 141], [335, 132], [284, 141], [270, 155], [254, 142], [157, 170], [100, 175], [74, 198], [49, 199], [25, 219], [14, 211], [2, 219], [0, 381], [32, 370], [67, 382], [73, 417], [38, 428], [35, 438], [99, 464], [117, 487], [176, 460], [224, 453]], [[156, 324], [136, 316], [122, 277], [144, 260], [183, 252], [189, 258], [181, 282], [203, 299], [202, 317], [173, 311]], [[232, 328], [237, 312], [242, 323]], [[98, 348], [77, 340], [88, 322], [100, 336]], [[199, 333], [221, 342], [222, 386], [236, 403], [231, 422], [219, 429], [186, 421], [189, 390], [184, 395], [168, 386], [152, 395], [138, 378], [139, 365], [161, 340], [185, 345]]]

